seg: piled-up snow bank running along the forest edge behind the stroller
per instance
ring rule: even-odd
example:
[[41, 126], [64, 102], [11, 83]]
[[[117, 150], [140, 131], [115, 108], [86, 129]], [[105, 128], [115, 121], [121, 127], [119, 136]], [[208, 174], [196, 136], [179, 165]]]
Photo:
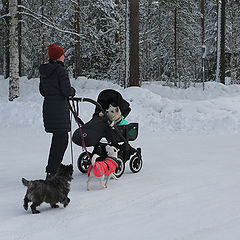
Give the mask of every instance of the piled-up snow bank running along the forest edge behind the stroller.
[[[139, 122], [155, 132], [195, 131], [198, 133], [239, 132], [240, 86], [206, 83], [188, 89], [170, 88], [159, 83], [145, 83], [141, 88], [123, 89], [117, 84], [80, 77], [71, 80], [77, 96], [95, 99], [107, 88], [119, 91], [131, 104], [128, 121]], [[8, 81], [0, 77], [1, 127], [42, 127], [42, 97], [39, 79], [20, 79], [20, 98], [8, 101]], [[80, 104], [84, 121], [91, 118], [94, 106]]]

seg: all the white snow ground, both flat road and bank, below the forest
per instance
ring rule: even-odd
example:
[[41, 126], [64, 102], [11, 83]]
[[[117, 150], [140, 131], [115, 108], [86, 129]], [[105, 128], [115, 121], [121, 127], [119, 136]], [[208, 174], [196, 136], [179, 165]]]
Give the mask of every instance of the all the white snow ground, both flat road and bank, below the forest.
[[[42, 126], [39, 79], [21, 78], [21, 97], [8, 102], [8, 82], [0, 76], [0, 239], [240, 239], [240, 87], [207, 83], [189, 89], [158, 83], [122, 89], [109, 82], [72, 80], [78, 96], [96, 99], [113, 88], [131, 103], [127, 118], [139, 122], [144, 166], [127, 167], [108, 189], [76, 167], [67, 208], [23, 207], [21, 178], [45, 177], [51, 135]], [[81, 104], [90, 119], [94, 106]], [[76, 128], [74, 124], [73, 128]], [[70, 150], [64, 163], [71, 162]]]

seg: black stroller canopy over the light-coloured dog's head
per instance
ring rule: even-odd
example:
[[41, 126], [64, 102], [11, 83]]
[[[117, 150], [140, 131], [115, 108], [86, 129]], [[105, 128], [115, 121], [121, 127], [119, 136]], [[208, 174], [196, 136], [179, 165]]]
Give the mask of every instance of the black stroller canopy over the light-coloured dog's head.
[[[119, 106], [123, 117], [127, 117], [130, 113], [131, 108], [129, 107], [130, 104], [123, 99], [122, 95], [113, 90], [113, 89], [106, 89], [99, 93], [97, 102], [102, 106], [103, 110], [106, 111], [109, 108], [109, 105], [116, 107]], [[95, 109], [95, 113], [99, 112], [99, 110]]]

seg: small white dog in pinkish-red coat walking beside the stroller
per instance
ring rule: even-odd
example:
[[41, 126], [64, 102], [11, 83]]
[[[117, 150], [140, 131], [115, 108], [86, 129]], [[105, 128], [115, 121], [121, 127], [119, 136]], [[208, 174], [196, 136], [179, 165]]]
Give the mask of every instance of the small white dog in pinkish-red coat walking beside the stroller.
[[[113, 173], [115, 172], [118, 166], [116, 163], [118, 151], [119, 149], [115, 148], [114, 146], [107, 145], [106, 146], [107, 157], [105, 158], [105, 160], [97, 162], [96, 159], [100, 156], [97, 154], [94, 154], [92, 156], [91, 159], [92, 164], [88, 168], [88, 180], [87, 180], [88, 191], [90, 190], [89, 183], [94, 176], [100, 178], [100, 183], [104, 188], [107, 188], [107, 184], [111, 176], [117, 179]], [[107, 179], [105, 184], [103, 184], [105, 175], [107, 176]]]

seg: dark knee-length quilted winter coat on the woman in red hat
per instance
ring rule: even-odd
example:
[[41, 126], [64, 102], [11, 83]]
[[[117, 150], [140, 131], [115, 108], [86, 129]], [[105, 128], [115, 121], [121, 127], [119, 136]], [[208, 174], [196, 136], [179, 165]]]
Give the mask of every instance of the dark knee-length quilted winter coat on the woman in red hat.
[[75, 95], [62, 62], [50, 60], [39, 68], [39, 90], [44, 97], [43, 122], [46, 132], [66, 133], [71, 129], [68, 97]]

